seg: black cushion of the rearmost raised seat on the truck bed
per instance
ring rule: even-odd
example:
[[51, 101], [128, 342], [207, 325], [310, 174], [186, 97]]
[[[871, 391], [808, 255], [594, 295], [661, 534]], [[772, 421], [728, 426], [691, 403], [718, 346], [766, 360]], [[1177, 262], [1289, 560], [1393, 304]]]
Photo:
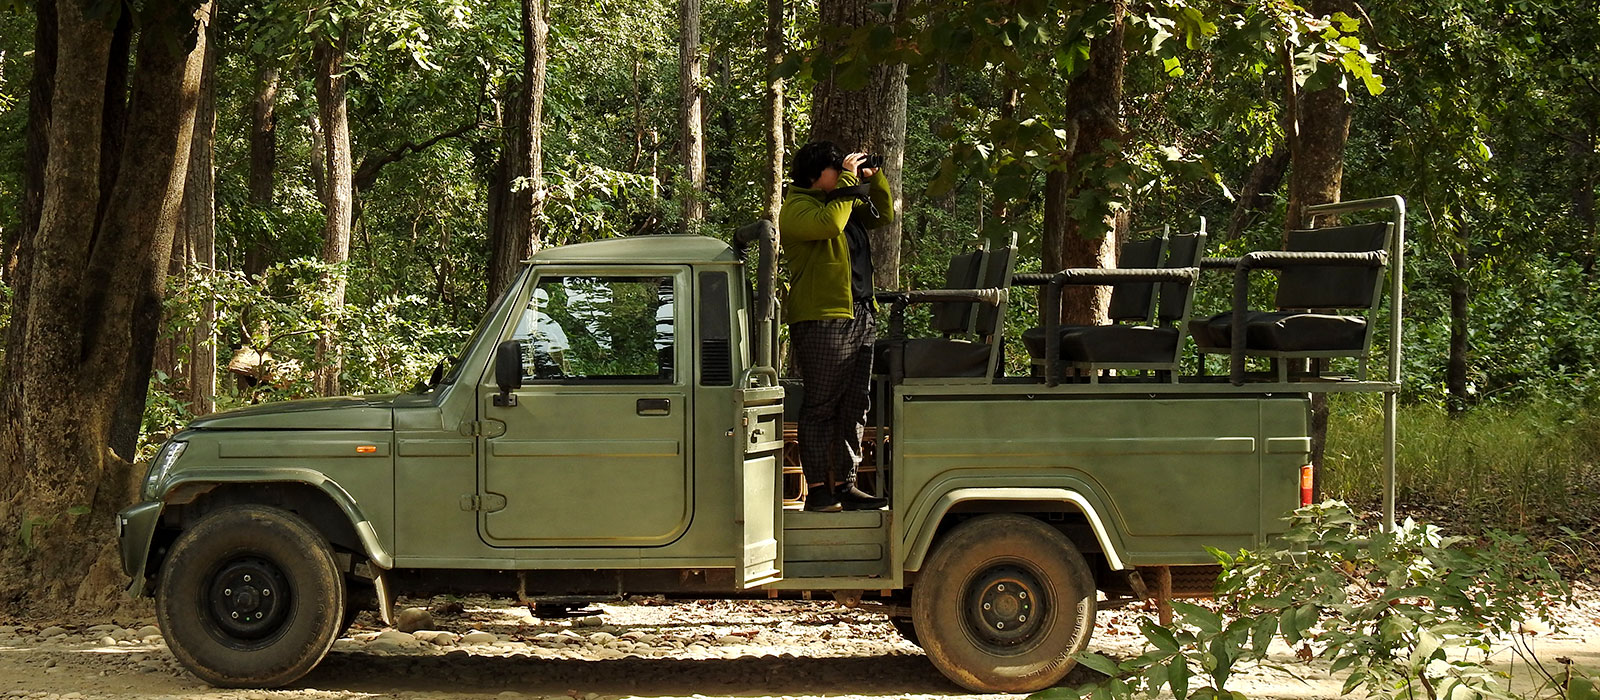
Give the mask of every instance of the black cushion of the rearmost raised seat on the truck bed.
[[[1189, 321], [1195, 345], [1226, 348], [1232, 342], [1232, 313]], [[1366, 342], [1366, 320], [1333, 313], [1245, 312], [1245, 337], [1250, 350], [1278, 352], [1358, 352]]]

